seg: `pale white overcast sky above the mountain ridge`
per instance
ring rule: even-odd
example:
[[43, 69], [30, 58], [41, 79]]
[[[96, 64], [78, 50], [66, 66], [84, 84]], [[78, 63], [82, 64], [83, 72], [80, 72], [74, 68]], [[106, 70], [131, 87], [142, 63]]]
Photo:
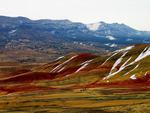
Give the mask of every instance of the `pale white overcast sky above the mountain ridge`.
[[150, 0], [0, 0], [0, 15], [118, 22], [150, 31]]

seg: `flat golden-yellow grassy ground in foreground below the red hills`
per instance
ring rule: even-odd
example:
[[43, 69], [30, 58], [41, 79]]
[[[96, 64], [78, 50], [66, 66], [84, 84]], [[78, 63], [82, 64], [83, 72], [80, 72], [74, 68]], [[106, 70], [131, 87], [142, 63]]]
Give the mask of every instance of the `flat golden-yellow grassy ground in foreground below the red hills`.
[[149, 113], [150, 91], [95, 88], [0, 94], [0, 113]]

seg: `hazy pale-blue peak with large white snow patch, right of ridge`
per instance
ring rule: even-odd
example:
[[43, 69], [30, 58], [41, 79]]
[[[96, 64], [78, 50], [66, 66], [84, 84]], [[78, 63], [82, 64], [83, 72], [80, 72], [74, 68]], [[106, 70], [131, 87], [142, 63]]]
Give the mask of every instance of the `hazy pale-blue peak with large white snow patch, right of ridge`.
[[108, 24], [105, 22], [98, 22], [87, 25], [89, 30], [95, 31], [99, 35], [112, 35], [112, 36], [132, 36], [141, 35], [142, 33], [135, 30], [125, 24], [112, 23]]

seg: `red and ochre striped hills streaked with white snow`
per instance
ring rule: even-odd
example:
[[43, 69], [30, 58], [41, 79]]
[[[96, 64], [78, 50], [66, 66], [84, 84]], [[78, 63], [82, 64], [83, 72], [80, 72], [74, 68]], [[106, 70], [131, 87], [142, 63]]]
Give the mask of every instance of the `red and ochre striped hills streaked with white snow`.
[[87, 53], [61, 56], [30, 71], [14, 72], [1, 78], [0, 84], [0, 90], [8, 92], [29, 86], [35, 89], [145, 87], [150, 85], [150, 45], [128, 46], [102, 56]]

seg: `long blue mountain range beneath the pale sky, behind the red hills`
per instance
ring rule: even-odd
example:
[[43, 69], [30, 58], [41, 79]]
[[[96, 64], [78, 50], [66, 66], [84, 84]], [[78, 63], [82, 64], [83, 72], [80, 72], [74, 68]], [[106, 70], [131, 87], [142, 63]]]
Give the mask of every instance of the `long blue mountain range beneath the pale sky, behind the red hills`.
[[150, 32], [125, 24], [85, 25], [69, 20], [30, 20], [0, 16], [1, 50], [35, 50], [51, 54], [104, 53], [132, 44], [149, 44]]

